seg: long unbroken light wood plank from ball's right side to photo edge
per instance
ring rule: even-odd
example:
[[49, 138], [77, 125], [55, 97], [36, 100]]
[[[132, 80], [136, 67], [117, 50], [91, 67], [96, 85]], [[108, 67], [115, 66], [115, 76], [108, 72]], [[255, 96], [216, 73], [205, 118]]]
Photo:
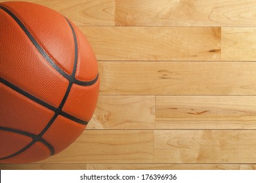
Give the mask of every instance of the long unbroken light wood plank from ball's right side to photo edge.
[[253, 62], [99, 62], [101, 95], [255, 95]]

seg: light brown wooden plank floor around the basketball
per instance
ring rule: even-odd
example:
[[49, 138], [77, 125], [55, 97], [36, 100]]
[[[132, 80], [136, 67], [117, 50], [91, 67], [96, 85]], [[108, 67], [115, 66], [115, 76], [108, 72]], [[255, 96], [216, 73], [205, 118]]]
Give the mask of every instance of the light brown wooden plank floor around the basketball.
[[100, 97], [66, 150], [1, 169], [256, 169], [256, 1], [33, 2], [91, 42]]

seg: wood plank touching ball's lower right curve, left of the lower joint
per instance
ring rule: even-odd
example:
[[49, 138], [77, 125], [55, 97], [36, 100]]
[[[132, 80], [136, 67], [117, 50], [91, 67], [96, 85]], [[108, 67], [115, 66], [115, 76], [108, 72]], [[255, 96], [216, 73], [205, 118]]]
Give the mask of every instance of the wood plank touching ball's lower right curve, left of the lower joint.
[[39, 163], [152, 163], [152, 130], [85, 130], [66, 150]]

